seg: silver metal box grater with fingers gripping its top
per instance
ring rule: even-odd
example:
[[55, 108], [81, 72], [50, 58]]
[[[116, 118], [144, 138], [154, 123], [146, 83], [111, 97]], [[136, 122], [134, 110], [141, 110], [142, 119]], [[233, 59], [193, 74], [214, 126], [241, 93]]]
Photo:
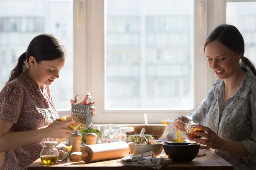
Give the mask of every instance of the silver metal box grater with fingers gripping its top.
[[90, 93], [87, 93], [84, 96], [85, 98], [83, 101], [76, 103], [79, 97], [79, 95], [76, 95], [75, 103], [72, 104], [71, 108], [71, 116], [77, 117], [82, 123], [81, 126], [77, 128], [77, 132], [80, 132], [81, 129], [86, 130], [88, 127], [93, 127], [93, 116], [95, 115], [94, 110], [96, 110], [93, 104], [95, 102], [92, 101]]

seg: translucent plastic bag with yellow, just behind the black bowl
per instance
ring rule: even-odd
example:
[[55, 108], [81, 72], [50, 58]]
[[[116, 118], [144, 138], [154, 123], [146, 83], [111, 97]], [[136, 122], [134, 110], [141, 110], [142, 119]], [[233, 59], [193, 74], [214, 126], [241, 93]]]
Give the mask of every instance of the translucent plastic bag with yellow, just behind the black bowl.
[[174, 142], [182, 142], [186, 140], [186, 135], [184, 133], [180, 133], [178, 130], [174, 128], [173, 125], [174, 119], [162, 119], [163, 124], [167, 124], [163, 134], [160, 136], [161, 139], [167, 139], [168, 141]]

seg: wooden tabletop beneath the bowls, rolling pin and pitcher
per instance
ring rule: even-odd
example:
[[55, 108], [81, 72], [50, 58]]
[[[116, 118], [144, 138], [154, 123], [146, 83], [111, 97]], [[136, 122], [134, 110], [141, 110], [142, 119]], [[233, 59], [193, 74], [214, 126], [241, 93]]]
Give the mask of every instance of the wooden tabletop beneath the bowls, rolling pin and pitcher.
[[[164, 165], [161, 170], [233, 170], [233, 166], [219, 157], [212, 150], [201, 150], [206, 156], [196, 157], [192, 162], [172, 162]], [[165, 156], [164, 154], [162, 156]], [[131, 167], [119, 163], [120, 159], [84, 163], [84, 161], [71, 161], [69, 159], [58, 161], [53, 165], [43, 165], [40, 158], [30, 164], [27, 170], [146, 170], [151, 167]]]

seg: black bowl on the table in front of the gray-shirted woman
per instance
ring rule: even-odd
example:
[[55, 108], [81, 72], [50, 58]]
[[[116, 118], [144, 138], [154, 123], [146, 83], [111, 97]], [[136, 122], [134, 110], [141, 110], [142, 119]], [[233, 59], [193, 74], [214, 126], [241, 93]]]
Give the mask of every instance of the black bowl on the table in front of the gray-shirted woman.
[[200, 144], [188, 145], [192, 143], [166, 143], [163, 144], [163, 150], [168, 158], [172, 161], [189, 161], [191, 162], [198, 155]]

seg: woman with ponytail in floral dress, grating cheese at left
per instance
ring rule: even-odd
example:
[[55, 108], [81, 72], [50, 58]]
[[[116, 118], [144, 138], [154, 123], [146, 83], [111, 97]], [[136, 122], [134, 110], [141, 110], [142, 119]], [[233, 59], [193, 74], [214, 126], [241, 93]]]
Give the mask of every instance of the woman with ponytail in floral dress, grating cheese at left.
[[40, 157], [42, 141], [65, 138], [73, 133], [61, 122], [49, 85], [59, 78], [66, 49], [54, 35], [36, 36], [17, 60], [0, 92], [0, 170], [26, 170]]

